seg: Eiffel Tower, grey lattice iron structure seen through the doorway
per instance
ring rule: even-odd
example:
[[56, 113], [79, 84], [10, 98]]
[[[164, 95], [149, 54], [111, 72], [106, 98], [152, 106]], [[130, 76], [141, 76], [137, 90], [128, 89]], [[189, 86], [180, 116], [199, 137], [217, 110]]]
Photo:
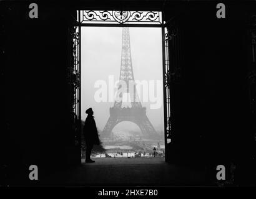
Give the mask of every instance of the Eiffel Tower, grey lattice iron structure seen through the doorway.
[[[121, 71], [120, 71], [120, 81], [126, 83], [127, 92], [130, 95], [131, 108], [122, 108], [122, 97], [123, 93], [119, 95], [119, 100], [115, 100], [114, 106], [109, 109], [109, 119], [107, 124], [102, 131], [102, 136], [110, 137], [112, 129], [122, 121], [130, 121], [139, 126], [142, 135], [145, 137], [156, 136], [157, 133], [147, 118], [146, 108], [142, 107], [142, 104], [139, 101], [137, 91], [135, 89], [134, 83], [134, 72], [132, 70], [132, 57], [130, 53], [130, 35], [129, 27], [122, 28], [122, 55], [121, 55]], [[130, 91], [129, 82], [132, 82], [134, 88]], [[121, 88], [121, 85], [119, 85]]]

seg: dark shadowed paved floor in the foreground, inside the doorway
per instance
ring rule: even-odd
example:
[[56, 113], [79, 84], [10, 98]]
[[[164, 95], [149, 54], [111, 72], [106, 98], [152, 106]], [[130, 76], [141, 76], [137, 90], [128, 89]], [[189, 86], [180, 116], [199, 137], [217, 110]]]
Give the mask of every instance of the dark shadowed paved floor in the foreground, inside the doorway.
[[[204, 170], [167, 164], [163, 158], [99, 158], [44, 180], [52, 185], [202, 185]], [[84, 161], [84, 160], [83, 160]]]

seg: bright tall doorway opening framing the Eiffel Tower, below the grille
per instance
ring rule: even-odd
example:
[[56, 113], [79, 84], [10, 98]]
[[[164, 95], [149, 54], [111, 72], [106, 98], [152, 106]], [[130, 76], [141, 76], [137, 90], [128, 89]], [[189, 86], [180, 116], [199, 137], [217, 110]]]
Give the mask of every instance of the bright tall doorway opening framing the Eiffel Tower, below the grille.
[[[81, 27], [81, 68], [82, 126], [92, 108], [102, 145], [92, 158], [164, 158], [161, 29]], [[85, 148], [82, 137], [82, 162]]]

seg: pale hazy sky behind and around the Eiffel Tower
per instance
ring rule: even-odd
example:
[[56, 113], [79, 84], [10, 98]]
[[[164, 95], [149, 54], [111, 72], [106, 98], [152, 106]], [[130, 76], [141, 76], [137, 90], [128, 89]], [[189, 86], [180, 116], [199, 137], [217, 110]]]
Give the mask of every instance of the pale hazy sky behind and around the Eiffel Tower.
[[[132, 54], [132, 67], [135, 80], [160, 80], [162, 93], [162, 39], [160, 28], [130, 27], [130, 47]], [[86, 119], [87, 108], [94, 109], [97, 128], [102, 130], [109, 118], [109, 108], [114, 102], [96, 102], [94, 95], [99, 88], [94, 84], [97, 80], [109, 83], [109, 75], [119, 80], [121, 69], [122, 27], [82, 27], [82, 119]], [[116, 90], [115, 90], [116, 91]], [[109, 92], [107, 92], [109, 95]], [[157, 93], [155, 91], [155, 96]], [[142, 102], [147, 108], [147, 116], [156, 130], [163, 129], [162, 95], [158, 109], [150, 109], [155, 102]], [[130, 106], [130, 103], [123, 103]], [[130, 122], [119, 123], [113, 131], [119, 129], [137, 130], [135, 124]]]

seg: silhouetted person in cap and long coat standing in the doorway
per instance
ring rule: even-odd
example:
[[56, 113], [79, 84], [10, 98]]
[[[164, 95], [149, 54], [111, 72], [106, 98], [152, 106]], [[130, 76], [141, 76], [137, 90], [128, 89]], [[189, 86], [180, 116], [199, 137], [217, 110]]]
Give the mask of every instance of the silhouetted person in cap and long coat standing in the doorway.
[[86, 114], [88, 114], [86, 118], [86, 122], [84, 123], [84, 139], [86, 140], [86, 162], [91, 163], [95, 162], [91, 160], [91, 152], [94, 144], [99, 145], [99, 136], [97, 132], [96, 123], [94, 121], [94, 112], [92, 108], [86, 110]]

